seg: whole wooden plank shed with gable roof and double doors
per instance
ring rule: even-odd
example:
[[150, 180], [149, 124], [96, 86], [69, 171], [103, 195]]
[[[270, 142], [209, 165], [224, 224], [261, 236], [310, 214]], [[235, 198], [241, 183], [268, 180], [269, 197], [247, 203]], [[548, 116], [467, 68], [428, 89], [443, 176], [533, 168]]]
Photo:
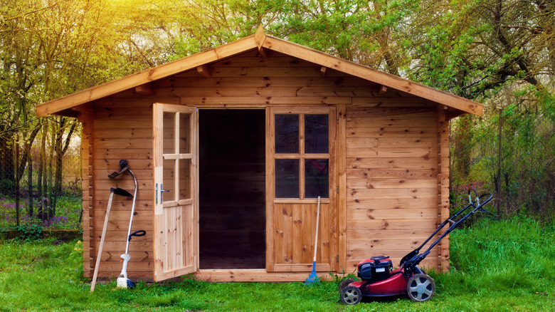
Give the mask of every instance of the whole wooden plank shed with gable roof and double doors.
[[[260, 28], [252, 36], [38, 105], [83, 123], [83, 266], [110, 187], [139, 181], [128, 274], [304, 281], [394, 264], [449, 214], [448, 120], [482, 105]], [[169, 192], [162, 193], [162, 190]], [[162, 196], [162, 194], [164, 194]], [[131, 201], [116, 197], [100, 277], [120, 273]], [[445, 270], [449, 242], [423, 266]]]

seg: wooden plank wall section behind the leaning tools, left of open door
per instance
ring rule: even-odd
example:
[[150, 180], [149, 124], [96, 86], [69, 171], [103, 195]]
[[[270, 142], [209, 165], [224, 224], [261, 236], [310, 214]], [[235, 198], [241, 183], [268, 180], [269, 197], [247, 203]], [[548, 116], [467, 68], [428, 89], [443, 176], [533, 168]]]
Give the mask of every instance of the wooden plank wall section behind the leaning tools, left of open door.
[[[134, 91], [133, 91], [134, 92]], [[129, 96], [129, 95], [128, 95]], [[178, 103], [176, 98], [163, 98], [169, 103]], [[135, 279], [152, 280], [154, 271], [152, 230], [152, 99], [107, 98], [94, 103], [93, 133], [88, 141], [91, 154], [90, 177], [96, 194], [91, 204], [90, 262], [97, 254], [98, 242], [106, 214], [110, 187], [121, 187], [133, 194], [134, 182], [129, 173], [111, 180], [110, 173], [120, 169], [119, 162], [127, 160], [129, 167], [137, 177], [139, 185], [132, 231], [144, 229], [146, 236], [134, 237], [129, 243], [129, 261], [127, 272]], [[93, 169], [94, 168], [94, 169]], [[117, 277], [122, 270], [120, 255], [125, 253], [125, 242], [129, 217], [131, 217], [132, 199], [115, 195], [112, 212], [107, 227], [103, 247], [100, 271], [101, 278]], [[83, 227], [85, 229], [85, 227]], [[83, 231], [85, 238], [85, 231]], [[85, 255], [86, 257], [86, 255]], [[85, 261], [86, 262], [86, 261]], [[94, 264], [94, 262], [92, 262]], [[93, 270], [94, 268], [90, 268]], [[85, 269], [85, 276], [92, 271]]]

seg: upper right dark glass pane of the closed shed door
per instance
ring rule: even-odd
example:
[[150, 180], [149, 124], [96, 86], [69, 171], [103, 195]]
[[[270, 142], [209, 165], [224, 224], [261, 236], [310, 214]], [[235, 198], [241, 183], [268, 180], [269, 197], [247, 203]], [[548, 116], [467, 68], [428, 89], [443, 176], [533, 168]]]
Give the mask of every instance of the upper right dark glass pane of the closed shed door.
[[329, 152], [328, 115], [305, 115], [305, 153], [327, 154]]

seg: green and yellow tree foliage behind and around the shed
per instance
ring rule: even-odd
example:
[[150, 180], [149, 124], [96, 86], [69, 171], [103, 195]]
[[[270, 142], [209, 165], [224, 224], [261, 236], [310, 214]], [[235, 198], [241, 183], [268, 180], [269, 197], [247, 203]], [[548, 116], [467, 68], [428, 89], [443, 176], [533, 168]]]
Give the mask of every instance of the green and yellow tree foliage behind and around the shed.
[[[53, 148], [70, 129], [56, 118], [39, 123], [36, 104], [229, 43], [263, 25], [275, 36], [484, 103], [482, 117], [450, 123], [451, 192], [475, 182], [499, 184], [503, 216], [549, 219], [555, 212], [552, 1], [1, 4], [0, 189], [15, 184], [16, 140], [30, 149], [35, 137], [48, 136]], [[59, 189], [48, 189], [53, 199]]]

